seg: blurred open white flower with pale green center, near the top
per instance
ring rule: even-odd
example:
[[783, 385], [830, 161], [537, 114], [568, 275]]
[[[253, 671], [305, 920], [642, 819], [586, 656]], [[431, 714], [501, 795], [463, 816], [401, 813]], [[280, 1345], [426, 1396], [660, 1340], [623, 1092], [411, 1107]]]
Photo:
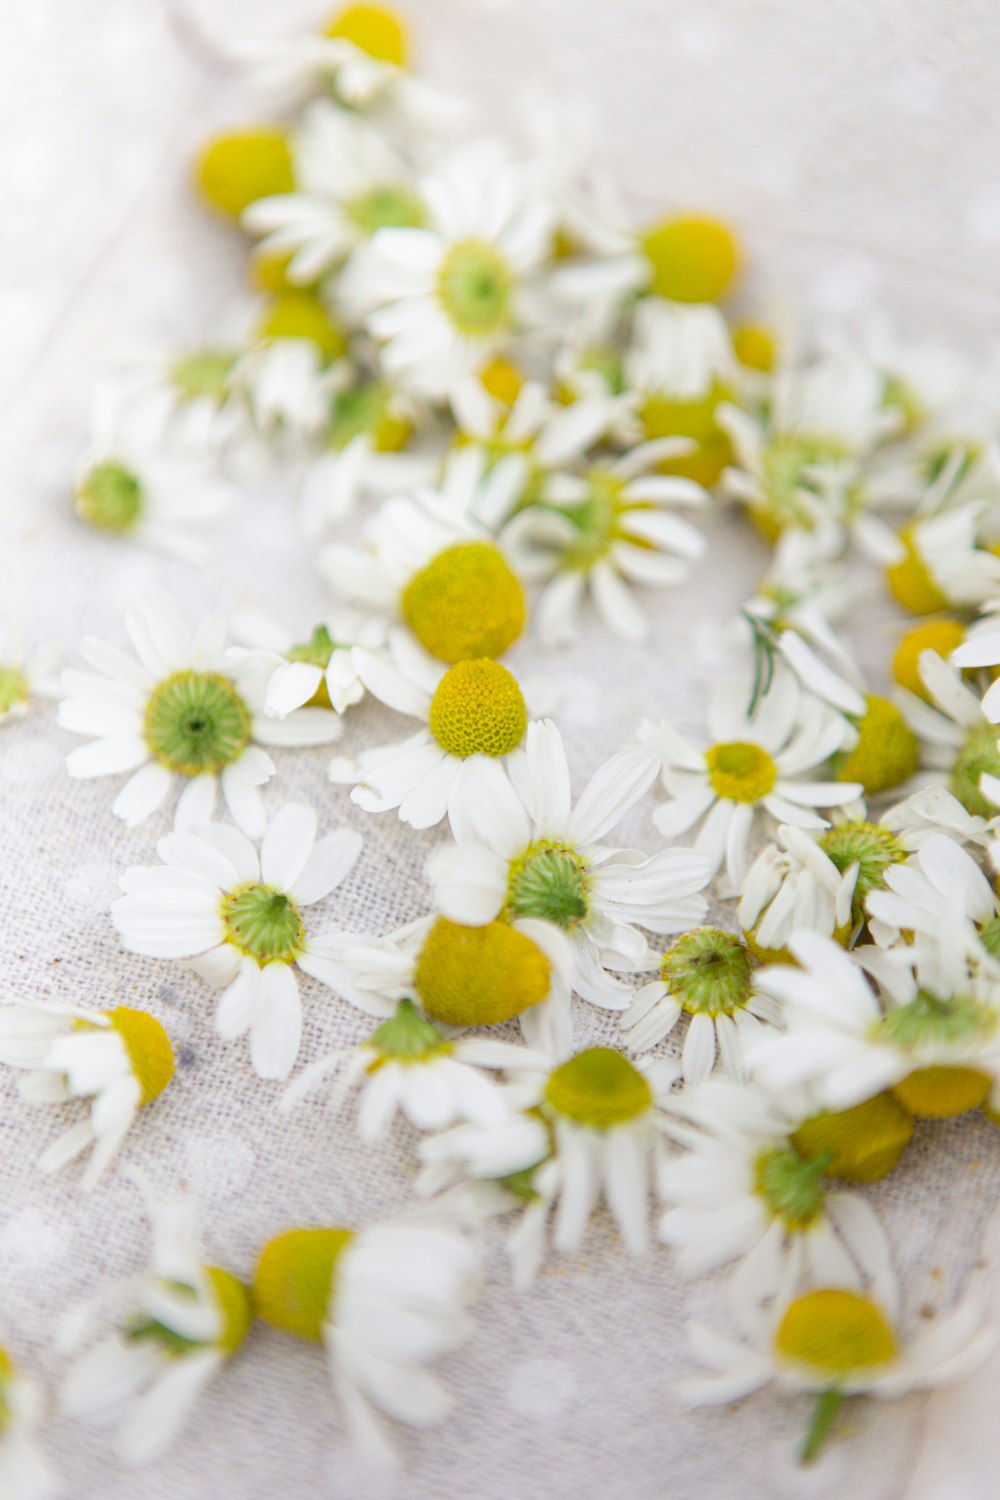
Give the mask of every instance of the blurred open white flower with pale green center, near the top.
[[423, 180], [421, 198], [426, 226], [379, 230], [357, 255], [348, 294], [367, 314], [385, 370], [447, 398], [525, 327], [526, 280], [549, 254], [555, 212], [492, 140], [456, 148]]

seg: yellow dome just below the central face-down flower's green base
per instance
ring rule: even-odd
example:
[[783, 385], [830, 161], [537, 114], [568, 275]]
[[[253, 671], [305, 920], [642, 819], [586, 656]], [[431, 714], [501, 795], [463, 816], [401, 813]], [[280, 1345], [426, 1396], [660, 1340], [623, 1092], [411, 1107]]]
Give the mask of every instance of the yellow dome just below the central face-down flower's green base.
[[544, 1000], [550, 975], [541, 948], [507, 922], [460, 927], [439, 916], [420, 950], [414, 988], [445, 1026], [496, 1026]]

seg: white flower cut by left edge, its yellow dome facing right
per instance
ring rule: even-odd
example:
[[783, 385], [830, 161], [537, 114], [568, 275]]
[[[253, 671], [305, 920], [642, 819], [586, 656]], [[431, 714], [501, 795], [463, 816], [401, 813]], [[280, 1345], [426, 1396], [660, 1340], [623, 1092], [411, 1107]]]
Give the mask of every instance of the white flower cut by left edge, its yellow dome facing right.
[[30, 1104], [91, 1101], [87, 1119], [70, 1125], [39, 1160], [42, 1172], [58, 1172], [93, 1146], [84, 1191], [108, 1167], [139, 1108], [174, 1077], [169, 1036], [153, 1016], [129, 1005], [111, 1011], [6, 1005], [0, 1062], [27, 1070], [19, 1092]]

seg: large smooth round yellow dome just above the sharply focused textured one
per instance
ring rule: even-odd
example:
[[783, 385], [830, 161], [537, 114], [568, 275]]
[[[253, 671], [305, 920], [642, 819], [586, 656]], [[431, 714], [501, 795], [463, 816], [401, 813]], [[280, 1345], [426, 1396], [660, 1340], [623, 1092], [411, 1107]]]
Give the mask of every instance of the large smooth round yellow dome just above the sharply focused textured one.
[[414, 573], [400, 598], [403, 620], [439, 662], [498, 657], [525, 628], [520, 579], [492, 542], [459, 542]]

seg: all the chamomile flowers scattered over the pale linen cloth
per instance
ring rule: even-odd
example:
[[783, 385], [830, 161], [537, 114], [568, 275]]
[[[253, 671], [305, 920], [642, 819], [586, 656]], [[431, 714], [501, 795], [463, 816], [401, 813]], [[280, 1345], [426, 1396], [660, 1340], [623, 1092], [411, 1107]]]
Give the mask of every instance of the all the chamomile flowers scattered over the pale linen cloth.
[[[1000, 1122], [1000, 412], [885, 333], [793, 342], [744, 316], [726, 225], [634, 224], [570, 153], [477, 138], [388, 10], [351, 6], [253, 66], [286, 112], [196, 170], [247, 238], [252, 333], [117, 372], [73, 502], [195, 560], [277, 454], [331, 609], [304, 636], [192, 632], [153, 591], [130, 651], [84, 640], [58, 722], [82, 740], [69, 774], [114, 778], [118, 819], [174, 808], [112, 906], [123, 948], [219, 992], [219, 1036], [286, 1083], [276, 1107], [324, 1090], [364, 1142], [402, 1116], [417, 1203], [291, 1228], [247, 1287], [205, 1262], [189, 1202], [150, 1202], [148, 1272], [102, 1300], [99, 1341], [94, 1310], [66, 1330], [61, 1402], [124, 1412], [118, 1454], [144, 1462], [256, 1317], [324, 1344], [385, 1452], [376, 1412], [448, 1408], [426, 1366], [469, 1332], [481, 1226], [510, 1222], [523, 1290], [606, 1206], [625, 1251], [729, 1268], [732, 1330], [691, 1328], [709, 1372], [685, 1389], [811, 1392], [811, 1460], [846, 1396], [955, 1378], [994, 1342], [972, 1305], [912, 1334], [868, 1185], [915, 1118]], [[774, 550], [705, 740], [643, 720], [580, 789], [505, 654], [571, 640], [589, 608], [627, 652], [642, 594], [685, 578], [699, 514], [727, 506]], [[919, 616], [892, 696], [841, 633], [876, 570]], [[48, 654], [0, 638], [0, 714], [52, 690]], [[348, 826], [318, 837], [348, 794], [331, 818], [271, 795], [367, 699], [411, 724], [334, 754], [330, 782], [448, 831], [426, 915], [375, 934], [321, 915], [363, 858]], [[658, 848], [622, 846], [654, 789]], [[367, 1020], [292, 1077], [310, 981]], [[580, 1048], [582, 1006], [618, 1012], [618, 1047]], [[40, 1161], [90, 1150], [84, 1186], [172, 1077], [166, 1032], [127, 1006], [13, 1004], [0, 1060], [37, 1104], [87, 1101]], [[48, 1492], [6, 1356], [0, 1398], [12, 1492]]]

